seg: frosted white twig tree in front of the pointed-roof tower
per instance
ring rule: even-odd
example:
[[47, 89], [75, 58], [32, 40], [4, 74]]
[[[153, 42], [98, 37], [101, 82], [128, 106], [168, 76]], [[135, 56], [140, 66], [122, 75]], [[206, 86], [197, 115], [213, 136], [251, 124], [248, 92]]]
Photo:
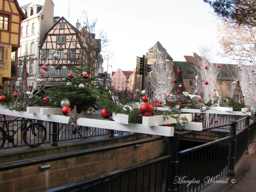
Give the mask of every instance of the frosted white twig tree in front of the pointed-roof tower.
[[151, 67], [151, 86], [154, 91], [154, 98], [162, 101], [165, 106], [165, 97], [171, 93], [173, 76], [173, 65], [167, 58], [167, 52], [156, 49], [155, 62], [150, 65]]

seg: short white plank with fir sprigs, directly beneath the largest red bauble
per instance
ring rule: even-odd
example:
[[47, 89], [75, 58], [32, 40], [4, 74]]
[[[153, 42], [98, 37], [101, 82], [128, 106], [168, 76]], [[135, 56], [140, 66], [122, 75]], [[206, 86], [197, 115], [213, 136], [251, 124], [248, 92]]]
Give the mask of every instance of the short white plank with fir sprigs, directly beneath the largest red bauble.
[[[178, 116], [178, 115], [173, 115]], [[192, 121], [192, 114], [180, 114], [180, 117], [187, 117], [188, 121]], [[183, 122], [183, 121], [180, 121]], [[149, 116], [149, 117], [142, 117], [142, 125], [143, 126], [154, 126], [154, 125], [163, 125], [163, 124], [171, 124], [176, 123], [176, 119], [169, 118], [165, 119], [164, 116]]]

